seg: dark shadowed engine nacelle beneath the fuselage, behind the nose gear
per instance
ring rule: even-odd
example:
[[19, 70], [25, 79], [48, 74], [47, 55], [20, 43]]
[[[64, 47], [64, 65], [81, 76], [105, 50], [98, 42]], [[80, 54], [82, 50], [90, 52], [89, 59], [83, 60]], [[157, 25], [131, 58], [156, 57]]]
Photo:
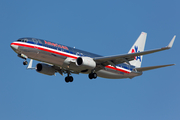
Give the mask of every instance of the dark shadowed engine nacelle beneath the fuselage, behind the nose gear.
[[54, 75], [55, 74], [55, 69], [45, 63], [38, 63], [36, 65], [36, 71], [45, 75]]

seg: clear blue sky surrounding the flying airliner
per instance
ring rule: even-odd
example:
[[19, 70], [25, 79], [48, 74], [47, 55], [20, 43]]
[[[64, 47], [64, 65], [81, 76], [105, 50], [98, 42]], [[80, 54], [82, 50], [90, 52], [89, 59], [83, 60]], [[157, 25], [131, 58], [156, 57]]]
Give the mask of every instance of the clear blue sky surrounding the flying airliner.
[[[1, 0], [1, 120], [179, 120], [179, 0]], [[134, 79], [89, 80], [73, 75], [46, 76], [26, 70], [10, 43], [35, 37], [100, 55], [127, 53], [140, 33], [145, 49], [168, 45], [146, 55], [142, 66], [176, 66], [144, 72]], [[34, 64], [35, 66], [35, 64]]]

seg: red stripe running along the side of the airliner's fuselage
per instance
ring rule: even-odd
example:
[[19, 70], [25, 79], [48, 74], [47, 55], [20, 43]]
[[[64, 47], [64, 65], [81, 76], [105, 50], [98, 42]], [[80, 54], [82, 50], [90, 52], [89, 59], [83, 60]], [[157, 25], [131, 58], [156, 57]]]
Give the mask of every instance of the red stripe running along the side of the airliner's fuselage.
[[[50, 53], [54, 53], [54, 54], [58, 54], [58, 55], [62, 55], [62, 56], [66, 56], [66, 57], [77, 59], [77, 57], [72, 56], [72, 55], [56, 52], [56, 51], [49, 50], [49, 49], [42, 48], [42, 47], [36, 47], [34, 45], [26, 45], [26, 44], [21, 44], [21, 43], [11, 43], [11, 45], [18, 45], [18, 46], [22, 46], [22, 47], [35, 48], [35, 49], [39, 49], [39, 50], [42, 50], [42, 51], [46, 51], [46, 52], [50, 52]], [[130, 73], [129, 71], [126, 71], [126, 70], [123, 70], [123, 69], [119, 69], [119, 68], [115, 68], [115, 67], [112, 67], [112, 66], [109, 66], [109, 65], [105, 66], [105, 67], [113, 69], [113, 70], [117, 70], [117, 71], [120, 71], [120, 72], [123, 72], [123, 73], [128, 73], [128, 74]]]

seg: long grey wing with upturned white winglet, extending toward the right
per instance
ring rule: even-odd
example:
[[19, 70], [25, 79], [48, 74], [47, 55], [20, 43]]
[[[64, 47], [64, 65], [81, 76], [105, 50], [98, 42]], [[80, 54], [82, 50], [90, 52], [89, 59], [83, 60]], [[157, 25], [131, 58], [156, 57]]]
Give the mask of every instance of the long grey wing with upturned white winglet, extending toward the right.
[[151, 54], [154, 52], [159, 52], [159, 51], [170, 49], [173, 46], [175, 37], [176, 36], [174, 36], [172, 38], [172, 40], [170, 41], [168, 46], [163, 47], [163, 48], [148, 50], [148, 51], [143, 51], [143, 52], [137, 52], [137, 53], [122, 54], [122, 55], [95, 57], [94, 61], [96, 61], [97, 65], [103, 65], [103, 66], [112, 65], [114, 67], [115, 67], [115, 65], [124, 63], [124, 62], [130, 64], [129, 61], [134, 60], [135, 56], [142, 56], [142, 55]]

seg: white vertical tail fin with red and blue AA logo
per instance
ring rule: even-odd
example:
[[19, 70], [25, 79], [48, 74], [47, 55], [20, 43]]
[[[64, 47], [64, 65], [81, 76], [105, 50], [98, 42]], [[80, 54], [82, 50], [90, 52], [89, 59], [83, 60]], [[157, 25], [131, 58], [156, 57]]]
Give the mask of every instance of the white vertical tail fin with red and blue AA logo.
[[[146, 43], [146, 37], [147, 37], [147, 33], [141, 32], [140, 36], [138, 37], [138, 39], [131, 47], [128, 53], [143, 52]], [[142, 58], [143, 56], [135, 56], [134, 60], [130, 61], [129, 63], [131, 65], [134, 65], [136, 68], [141, 67]]]

